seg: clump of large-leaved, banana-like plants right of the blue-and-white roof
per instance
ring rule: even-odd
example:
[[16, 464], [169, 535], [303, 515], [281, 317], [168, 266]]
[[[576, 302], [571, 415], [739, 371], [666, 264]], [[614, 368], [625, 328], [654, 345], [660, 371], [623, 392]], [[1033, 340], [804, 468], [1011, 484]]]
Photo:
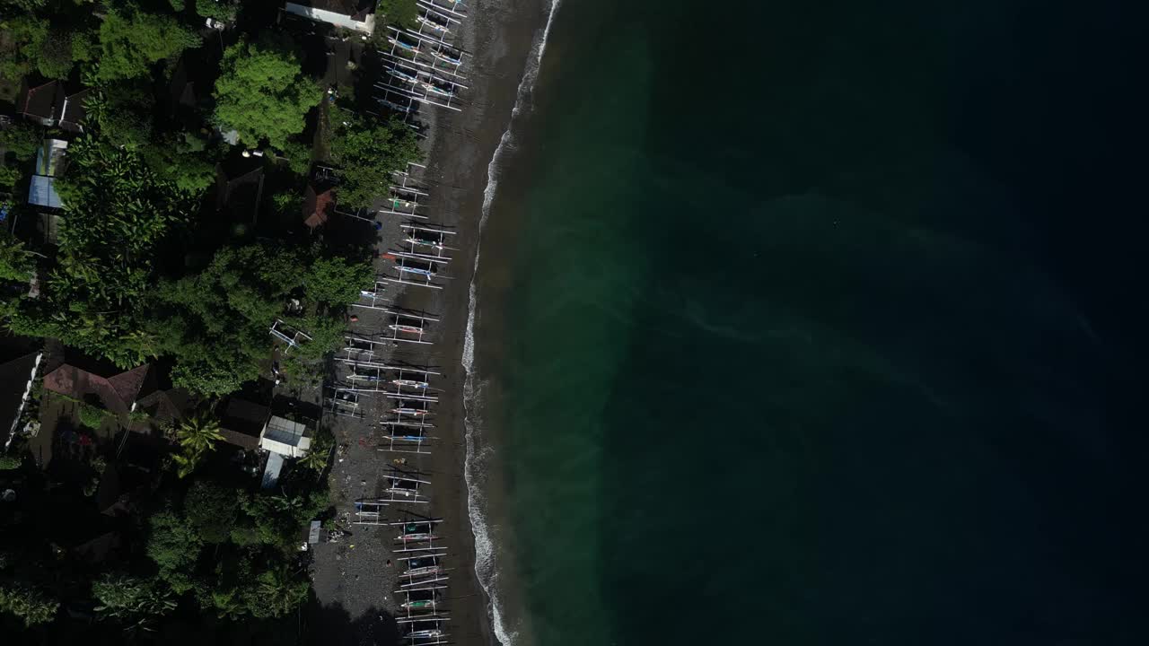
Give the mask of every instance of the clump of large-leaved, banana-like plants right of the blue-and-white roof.
[[23, 301], [8, 325], [137, 366], [159, 349], [140, 321], [155, 247], [195, 203], [131, 151], [80, 137], [68, 160], [68, 175], [56, 182], [67, 222], [57, 267], [44, 295]]

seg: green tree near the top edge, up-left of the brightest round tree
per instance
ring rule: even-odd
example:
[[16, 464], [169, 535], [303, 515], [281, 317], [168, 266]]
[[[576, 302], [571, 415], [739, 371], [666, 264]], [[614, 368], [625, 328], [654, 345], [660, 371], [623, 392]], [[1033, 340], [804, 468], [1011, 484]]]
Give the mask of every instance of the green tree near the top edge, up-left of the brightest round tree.
[[171, 16], [132, 5], [110, 9], [100, 23], [99, 80], [144, 76], [148, 67], [200, 44], [200, 37]]

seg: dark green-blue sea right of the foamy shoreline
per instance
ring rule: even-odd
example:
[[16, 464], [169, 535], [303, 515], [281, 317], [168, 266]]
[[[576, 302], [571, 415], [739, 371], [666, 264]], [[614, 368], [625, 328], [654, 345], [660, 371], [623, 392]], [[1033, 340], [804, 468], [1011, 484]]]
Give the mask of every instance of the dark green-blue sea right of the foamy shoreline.
[[714, 8], [562, 2], [492, 163], [500, 640], [1149, 643], [1147, 7]]

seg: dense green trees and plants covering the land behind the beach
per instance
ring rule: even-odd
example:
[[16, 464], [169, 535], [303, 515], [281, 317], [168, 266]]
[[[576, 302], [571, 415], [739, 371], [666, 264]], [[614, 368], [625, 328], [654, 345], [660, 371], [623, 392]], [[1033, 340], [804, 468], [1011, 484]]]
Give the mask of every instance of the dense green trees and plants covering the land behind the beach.
[[[126, 464], [100, 444], [101, 429], [125, 433], [125, 420], [63, 395], [69, 432], [94, 443], [68, 459], [67, 472], [36, 469], [23, 440], [0, 451], [0, 478], [18, 482], [23, 497], [0, 514], [0, 633], [30, 628], [40, 643], [226, 633], [254, 643], [255, 633], [298, 630], [275, 620], [309, 593], [299, 544], [327, 508], [317, 475], [332, 439], [321, 432], [276, 490], [259, 491], [221, 448], [214, 405], [268, 375], [272, 357], [288, 384], [316, 379], [342, 343], [347, 307], [372, 284], [373, 237], [309, 234], [307, 186], [333, 183], [341, 205], [370, 207], [390, 172], [419, 153], [407, 124], [367, 116], [350, 86], [332, 93], [338, 105], [325, 101], [308, 64], [322, 34], [293, 40], [263, 9], [236, 0], [0, 0], [0, 102], [59, 79], [84, 108], [80, 132], [0, 124], [0, 201], [22, 222], [0, 232], [0, 322], [124, 369], [159, 361], [201, 402], [163, 431], [153, 467]], [[391, 0], [386, 9], [386, 22], [404, 24], [416, 5]], [[229, 26], [205, 29], [203, 18]], [[183, 92], [180, 75], [195, 76], [193, 92]], [[46, 137], [68, 141], [51, 240], [34, 225], [43, 209], [22, 199]], [[261, 198], [250, 217], [238, 217], [219, 202], [221, 182], [229, 164], [249, 162], [263, 164]], [[314, 162], [336, 168], [338, 180], [314, 178]], [[276, 356], [277, 321], [310, 341]], [[38, 424], [34, 412], [25, 417]], [[146, 417], [133, 412], [130, 422]], [[146, 483], [113, 522], [94, 500], [119, 468]], [[78, 556], [77, 528], [105, 524], [123, 541], [115, 556]], [[85, 616], [94, 623], [65, 621]]]

